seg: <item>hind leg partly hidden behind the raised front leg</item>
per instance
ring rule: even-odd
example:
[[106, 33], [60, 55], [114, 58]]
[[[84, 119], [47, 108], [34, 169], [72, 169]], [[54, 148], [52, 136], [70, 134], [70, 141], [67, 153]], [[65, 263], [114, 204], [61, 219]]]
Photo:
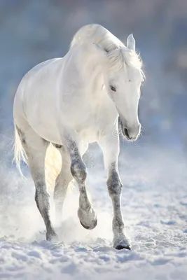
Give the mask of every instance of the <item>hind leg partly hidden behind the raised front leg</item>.
[[73, 179], [70, 170], [70, 157], [67, 151], [65, 151], [64, 146], [54, 145], [58, 151], [60, 151], [62, 158], [62, 167], [60, 174], [57, 176], [55, 181], [55, 190], [54, 190], [54, 201], [55, 201], [55, 217], [56, 222], [60, 223], [62, 221], [62, 207], [64, 204], [64, 198], [67, 194], [67, 188], [69, 183]]

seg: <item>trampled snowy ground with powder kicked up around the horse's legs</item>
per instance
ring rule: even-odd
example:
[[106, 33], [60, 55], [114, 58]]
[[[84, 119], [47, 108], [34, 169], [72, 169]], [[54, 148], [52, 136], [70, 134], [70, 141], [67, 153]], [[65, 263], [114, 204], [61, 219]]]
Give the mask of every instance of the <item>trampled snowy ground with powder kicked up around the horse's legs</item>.
[[[22, 181], [13, 167], [8, 172], [0, 197], [0, 279], [186, 280], [183, 151], [125, 145], [120, 153], [120, 176], [132, 251], [112, 247], [111, 200], [100, 152], [92, 148], [85, 160], [97, 228], [89, 231], [81, 227], [76, 214], [78, 190], [72, 188], [64, 203], [62, 223], [56, 227], [60, 242], [55, 244], [45, 240], [32, 180]], [[51, 216], [54, 221], [53, 201]]]

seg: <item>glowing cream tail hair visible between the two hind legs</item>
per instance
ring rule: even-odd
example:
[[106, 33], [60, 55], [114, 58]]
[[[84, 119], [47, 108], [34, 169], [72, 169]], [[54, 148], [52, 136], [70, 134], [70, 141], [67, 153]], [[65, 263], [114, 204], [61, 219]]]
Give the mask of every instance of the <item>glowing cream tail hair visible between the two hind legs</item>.
[[62, 168], [62, 157], [57, 148], [50, 144], [46, 151], [45, 158], [45, 174], [46, 174], [46, 184], [49, 188], [54, 188], [55, 179], [60, 174]]

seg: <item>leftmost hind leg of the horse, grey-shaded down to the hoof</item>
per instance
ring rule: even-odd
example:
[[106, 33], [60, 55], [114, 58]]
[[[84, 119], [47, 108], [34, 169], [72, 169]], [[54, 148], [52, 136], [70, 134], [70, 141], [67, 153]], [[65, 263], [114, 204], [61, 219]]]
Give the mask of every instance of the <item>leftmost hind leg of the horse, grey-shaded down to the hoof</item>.
[[27, 154], [29, 169], [36, 188], [36, 205], [46, 225], [46, 239], [57, 239], [57, 234], [50, 221], [49, 195], [47, 193], [45, 178], [45, 156], [49, 143], [39, 137], [32, 130], [32, 127], [27, 127], [27, 130], [24, 131], [18, 129], [18, 134]]

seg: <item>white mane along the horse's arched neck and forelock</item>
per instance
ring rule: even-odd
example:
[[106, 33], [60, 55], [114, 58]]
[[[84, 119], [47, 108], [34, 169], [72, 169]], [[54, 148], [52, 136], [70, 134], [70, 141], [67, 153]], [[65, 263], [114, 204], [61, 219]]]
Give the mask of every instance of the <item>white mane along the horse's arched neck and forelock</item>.
[[101, 25], [81, 27], [71, 41], [71, 48], [74, 45], [90, 46], [94, 43], [100, 45], [107, 52], [111, 69], [122, 69], [126, 64], [139, 69], [144, 76], [141, 69], [142, 62], [137, 52], [129, 50], [116, 36]]

